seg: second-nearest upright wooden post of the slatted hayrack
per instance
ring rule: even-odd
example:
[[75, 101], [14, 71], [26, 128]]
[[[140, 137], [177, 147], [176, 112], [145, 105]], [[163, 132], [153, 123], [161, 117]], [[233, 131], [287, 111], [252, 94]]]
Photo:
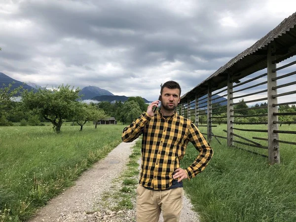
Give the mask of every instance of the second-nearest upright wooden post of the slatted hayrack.
[[[233, 97], [232, 94], [232, 77], [231, 77], [231, 73], [228, 73], [227, 76], [227, 146], [232, 146], [233, 145], [233, 135], [231, 135], [231, 133], [233, 133], [233, 117], [231, 117], [231, 115], [233, 115], [233, 106], [231, 106], [231, 103], [233, 103], [233, 100], [230, 99], [231, 97]], [[232, 111], [231, 111], [232, 110]]]

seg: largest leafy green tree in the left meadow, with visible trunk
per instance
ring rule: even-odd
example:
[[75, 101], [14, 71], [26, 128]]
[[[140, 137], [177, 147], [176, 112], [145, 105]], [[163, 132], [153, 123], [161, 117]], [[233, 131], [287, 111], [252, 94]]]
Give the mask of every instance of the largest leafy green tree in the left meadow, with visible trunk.
[[37, 89], [37, 92], [25, 90], [22, 93], [24, 106], [29, 110], [40, 113], [53, 124], [56, 133], [61, 132], [63, 120], [73, 119], [80, 108], [78, 99], [79, 88], [61, 85], [56, 89]]

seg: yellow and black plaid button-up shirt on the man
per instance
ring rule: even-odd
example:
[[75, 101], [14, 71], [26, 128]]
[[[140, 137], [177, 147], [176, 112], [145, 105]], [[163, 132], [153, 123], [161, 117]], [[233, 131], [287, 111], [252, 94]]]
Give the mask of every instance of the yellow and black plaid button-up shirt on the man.
[[213, 150], [197, 127], [175, 112], [165, 119], [158, 111], [151, 118], [144, 112], [122, 133], [123, 142], [132, 142], [143, 134], [140, 185], [151, 189], [167, 189], [172, 185], [173, 172], [190, 141], [199, 151], [194, 162], [185, 170], [188, 179], [195, 177], [208, 165]]

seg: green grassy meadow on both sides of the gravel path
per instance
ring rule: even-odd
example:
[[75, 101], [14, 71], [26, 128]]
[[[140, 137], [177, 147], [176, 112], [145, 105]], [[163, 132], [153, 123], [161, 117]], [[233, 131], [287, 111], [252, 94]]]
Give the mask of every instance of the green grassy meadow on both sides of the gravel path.
[[[0, 221], [26, 221], [46, 201], [73, 185], [93, 163], [104, 158], [121, 142], [123, 125], [66, 123], [60, 134], [46, 126], [0, 127]], [[237, 128], [254, 129], [239, 125]], [[267, 126], [256, 126], [266, 129]], [[213, 128], [215, 135], [226, 136], [226, 125]], [[296, 130], [283, 125], [280, 130]], [[200, 127], [206, 132], [206, 127]], [[252, 139], [267, 138], [266, 133], [235, 131]], [[241, 139], [236, 138], [239, 141]], [[281, 164], [269, 165], [265, 157], [237, 148], [226, 140], [211, 142], [214, 156], [205, 171], [185, 181], [187, 196], [201, 222], [295, 222], [296, 221], [296, 146], [280, 144]], [[294, 135], [280, 134], [280, 140], [295, 141]], [[267, 142], [255, 140], [262, 146]], [[267, 150], [236, 144], [267, 155]], [[181, 161], [187, 167], [196, 157], [189, 143]]]

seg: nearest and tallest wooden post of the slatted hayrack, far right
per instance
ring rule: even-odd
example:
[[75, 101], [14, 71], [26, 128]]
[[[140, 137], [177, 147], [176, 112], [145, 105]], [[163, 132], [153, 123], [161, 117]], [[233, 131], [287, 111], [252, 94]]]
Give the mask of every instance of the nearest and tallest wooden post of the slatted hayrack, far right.
[[276, 77], [276, 72], [272, 72], [276, 69], [276, 63], [272, 64], [275, 60], [275, 42], [272, 41], [268, 45], [267, 51], [267, 110], [268, 110], [268, 160], [270, 164], [280, 163], [280, 149], [278, 133], [274, 133], [274, 130], [278, 130], [278, 124], [274, 124], [273, 121], [278, 121], [278, 116], [273, 115], [273, 112], [278, 112], [277, 107], [273, 107], [272, 104], [277, 104], [277, 97], [273, 98], [273, 95], [277, 94], [277, 90], [272, 90], [272, 87], [277, 85], [277, 81], [272, 81], [272, 78]]

